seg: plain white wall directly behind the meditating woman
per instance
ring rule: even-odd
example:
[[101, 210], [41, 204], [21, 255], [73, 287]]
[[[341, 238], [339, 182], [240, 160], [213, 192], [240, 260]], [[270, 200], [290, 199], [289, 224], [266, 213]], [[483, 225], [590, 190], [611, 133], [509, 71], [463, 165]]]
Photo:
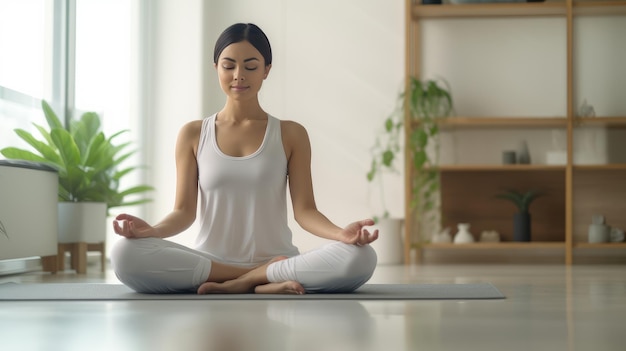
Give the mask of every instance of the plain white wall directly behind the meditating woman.
[[[380, 210], [365, 174], [375, 131], [393, 108], [404, 75], [404, 2], [386, 0], [157, 0], [150, 2], [153, 81], [146, 134], [150, 182], [157, 188], [148, 219], [174, 200], [174, 144], [187, 121], [221, 108], [213, 45], [236, 22], [259, 25], [272, 43], [263, 107], [303, 124], [311, 138], [318, 207], [338, 225]], [[386, 189], [392, 215], [403, 214], [402, 178]], [[371, 196], [372, 199], [376, 198]], [[323, 241], [291, 223], [302, 250]], [[196, 227], [173, 240], [192, 244]]]

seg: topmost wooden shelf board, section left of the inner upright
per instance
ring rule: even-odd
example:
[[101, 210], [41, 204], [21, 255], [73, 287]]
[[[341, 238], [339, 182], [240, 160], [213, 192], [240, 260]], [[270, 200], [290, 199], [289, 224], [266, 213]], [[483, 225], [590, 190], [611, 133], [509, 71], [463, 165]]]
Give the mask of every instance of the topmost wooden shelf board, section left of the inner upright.
[[413, 5], [413, 18], [565, 16], [565, 2]]

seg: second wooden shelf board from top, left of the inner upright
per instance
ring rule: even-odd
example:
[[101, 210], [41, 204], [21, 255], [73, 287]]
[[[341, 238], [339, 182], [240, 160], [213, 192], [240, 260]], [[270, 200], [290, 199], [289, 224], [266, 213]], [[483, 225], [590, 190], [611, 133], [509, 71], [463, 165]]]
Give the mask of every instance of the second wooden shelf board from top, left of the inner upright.
[[567, 127], [565, 117], [448, 117], [439, 123], [443, 128], [470, 127]]

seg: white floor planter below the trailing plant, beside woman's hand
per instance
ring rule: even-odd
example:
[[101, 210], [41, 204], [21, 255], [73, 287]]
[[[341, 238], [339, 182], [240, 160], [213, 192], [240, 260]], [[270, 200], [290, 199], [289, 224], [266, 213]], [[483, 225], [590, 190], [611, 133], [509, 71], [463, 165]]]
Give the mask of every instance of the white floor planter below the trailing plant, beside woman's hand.
[[371, 246], [378, 256], [378, 264], [401, 264], [404, 261], [402, 250], [402, 232], [404, 220], [399, 218], [382, 218], [372, 229], [378, 229], [378, 240]]

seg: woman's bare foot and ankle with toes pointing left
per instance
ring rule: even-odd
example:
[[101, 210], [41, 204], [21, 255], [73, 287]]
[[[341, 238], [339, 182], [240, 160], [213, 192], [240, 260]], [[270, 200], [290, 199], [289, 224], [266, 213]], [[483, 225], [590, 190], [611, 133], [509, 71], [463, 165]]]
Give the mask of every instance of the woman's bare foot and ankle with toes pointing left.
[[267, 266], [286, 259], [287, 257], [275, 257], [269, 262], [251, 270], [239, 278], [225, 281], [223, 283], [206, 282], [198, 288], [198, 294], [246, 294], [254, 292], [257, 285], [269, 283], [267, 280]]

